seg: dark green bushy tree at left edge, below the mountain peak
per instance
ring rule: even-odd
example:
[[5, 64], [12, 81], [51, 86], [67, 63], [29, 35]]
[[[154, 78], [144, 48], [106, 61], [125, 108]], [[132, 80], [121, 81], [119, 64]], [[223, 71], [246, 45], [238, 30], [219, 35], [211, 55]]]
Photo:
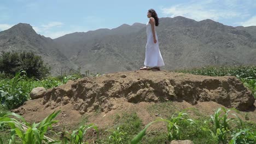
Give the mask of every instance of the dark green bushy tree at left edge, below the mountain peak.
[[2, 52], [0, 57], [0, 72], [15, 75], [21, 69], [28, 77], [42, 79], [50, 73], [50, 67], [44, 64], [42, 57], [32, 52]]

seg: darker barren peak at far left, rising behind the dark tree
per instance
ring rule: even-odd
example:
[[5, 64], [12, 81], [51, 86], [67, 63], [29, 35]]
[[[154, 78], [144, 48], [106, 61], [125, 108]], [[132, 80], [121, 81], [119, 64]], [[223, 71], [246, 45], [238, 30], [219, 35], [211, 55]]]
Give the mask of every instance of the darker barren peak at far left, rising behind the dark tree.
[[0, 51], [31, 51], [42, 56], [45, 63], [52, 67], [52, 73], [60, 75], [63, 70], [76, 69], [77, 67], [57, 49], [52, 39], [37, 34], [32, 26], [19, 23], [0, 32]]

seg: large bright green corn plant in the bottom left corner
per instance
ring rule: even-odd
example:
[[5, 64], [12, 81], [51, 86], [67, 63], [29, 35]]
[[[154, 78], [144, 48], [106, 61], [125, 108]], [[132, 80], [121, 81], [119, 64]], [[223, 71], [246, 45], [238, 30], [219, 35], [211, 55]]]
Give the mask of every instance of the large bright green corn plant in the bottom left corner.
[[[1, 114], [0, 124], [8, 123], [10, 126], [11, 137], [9, 143], [15, 143], [15, 136], [18, 136], [24, 144], [56, 143], [57, 141], [51, 140], [49, 137], [46, 137], [45, 134], [54, 123], [57, 123], [54, 118], [59, 115], [59, 113], [60, 111], [53, 112], [43, 119], [43, 121], [29, 124], [22, 116], [13, 112], [7, 112]], [[21, 122], [13, 117], [16, 117]]]

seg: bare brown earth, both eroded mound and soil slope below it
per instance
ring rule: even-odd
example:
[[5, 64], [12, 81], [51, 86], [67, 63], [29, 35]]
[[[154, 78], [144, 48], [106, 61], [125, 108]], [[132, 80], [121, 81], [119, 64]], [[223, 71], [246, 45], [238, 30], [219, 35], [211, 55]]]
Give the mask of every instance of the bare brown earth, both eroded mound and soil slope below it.
[[234, 107], [242, 119], [248, 113], [249, 120], [256, 122], [255, 104], [252, 93], [236, 77], [138, 70], [69, 81], [14, 112], [38, 122], [61, 110], [56, 118], [61, 127], [85, 123], [86, 117], [86, 122], [107, 128], [124, 112], [136, 112], [147, 124], [184, 109], [193, 117], [211, 115], [218, 107]]

